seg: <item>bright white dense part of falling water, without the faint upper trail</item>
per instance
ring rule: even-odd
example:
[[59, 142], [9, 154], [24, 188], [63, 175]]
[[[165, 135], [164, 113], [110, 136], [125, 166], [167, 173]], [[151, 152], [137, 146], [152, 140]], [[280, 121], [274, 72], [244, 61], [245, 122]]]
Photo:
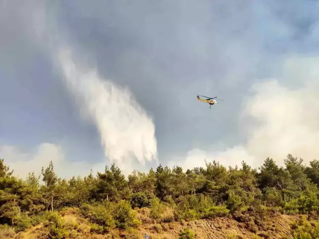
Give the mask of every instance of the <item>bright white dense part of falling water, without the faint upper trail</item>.
[[58, 60], [69, 91], [96, 124], [105, 157], [128, 171], [134, 158], [143, 165], [157, 160], [155, 125], [130, 91], [79, 67], [70, 50], [59, 51]]

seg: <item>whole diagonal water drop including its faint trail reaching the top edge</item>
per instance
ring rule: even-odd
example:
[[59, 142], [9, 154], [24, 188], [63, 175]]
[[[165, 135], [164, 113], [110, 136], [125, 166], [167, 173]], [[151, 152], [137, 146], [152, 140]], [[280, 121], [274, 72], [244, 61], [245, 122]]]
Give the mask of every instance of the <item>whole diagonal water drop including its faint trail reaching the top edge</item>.
[[21, 29], [28, 29], [30, 41], [49, 53], [57, 63], [57, 70], [64, 72], [64, 83], [74, 95], [80, 112], [92, 120], [99, 131], [105, 157], [127, 171], [135, 159], [143, 165], [146, 161], [157, 160], [152, 118], [127, 88], [101, 79], [96, 69], [79, 66], [72, 57], [79, 52], [71, 49], [76, 39], [70, 40], [67, 29], [56, 21], [55, 7], [45, 2], [24, 4], [21, 10], [28, 9], [29, 14], [20, 14], [16, 7], [8, 2], [4, 13], [19, 16], [18, 23]]

